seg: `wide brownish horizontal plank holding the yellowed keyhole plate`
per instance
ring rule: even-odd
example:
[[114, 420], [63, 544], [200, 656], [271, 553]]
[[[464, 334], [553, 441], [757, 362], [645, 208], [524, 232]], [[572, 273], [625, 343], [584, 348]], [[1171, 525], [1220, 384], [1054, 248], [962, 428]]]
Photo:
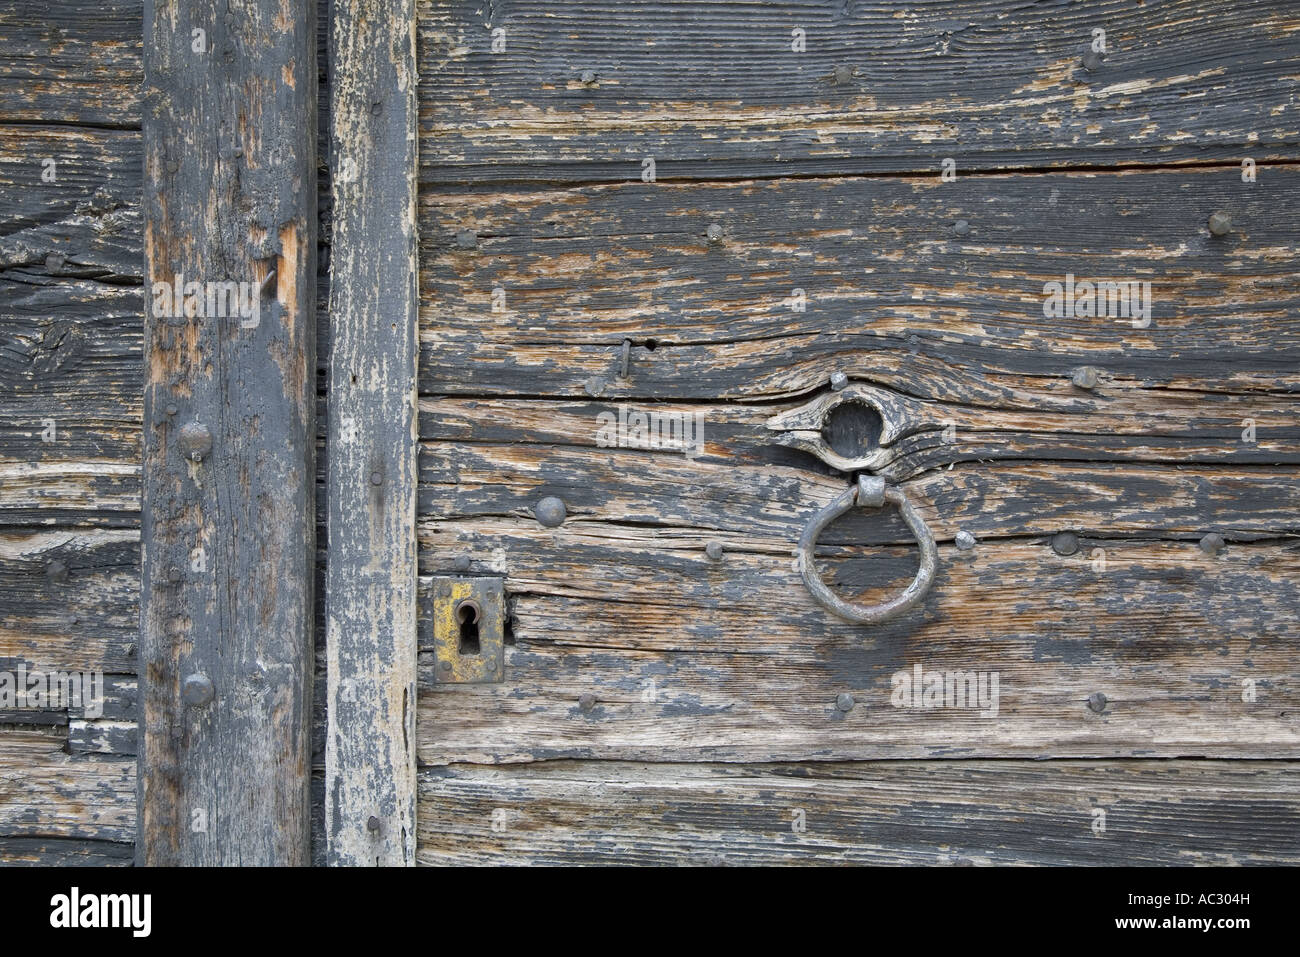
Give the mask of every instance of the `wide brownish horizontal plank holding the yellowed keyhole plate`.
[[[976, 527], [975, 549], [940, 546], [916, 611], [861, 628], [815, 605], [793, 567], [811, 508], [759, 502], [770, 518], [748, 531], [715, 529], [706, 501], [682, 499], [619, 520], [575, 508], [556, 529], [523, 515], [422, 523], [426, 570], [467, 557], [472, 573], [506, 577], [514, 645], [506, 680], [472, 689], [434, 685], [422, 655], [420, 724], [439, 731], [421, 736], [421, 762], [1300, 754], [1294, 533], [1210, 557], [1093, 532], [1058, 555], [1049, 536]], [[779, 510], [784, 533], [768, 531]], [[879, 599], [913, 575], [914, 546], [854, 540], [822, 550], [838, 592]], [[896, 702], [897, 675], [918, 664], [997, 672], [1000, 705]]]

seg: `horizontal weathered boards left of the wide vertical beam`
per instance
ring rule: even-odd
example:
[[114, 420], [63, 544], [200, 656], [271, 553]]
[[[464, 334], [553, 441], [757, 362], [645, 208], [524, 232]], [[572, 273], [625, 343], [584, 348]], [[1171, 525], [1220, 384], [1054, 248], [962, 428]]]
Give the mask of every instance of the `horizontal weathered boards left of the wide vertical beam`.
[[134, 856], [142, 7], [0, 4], [0, 670], [105, 683], [0, 715], [5, 865]]

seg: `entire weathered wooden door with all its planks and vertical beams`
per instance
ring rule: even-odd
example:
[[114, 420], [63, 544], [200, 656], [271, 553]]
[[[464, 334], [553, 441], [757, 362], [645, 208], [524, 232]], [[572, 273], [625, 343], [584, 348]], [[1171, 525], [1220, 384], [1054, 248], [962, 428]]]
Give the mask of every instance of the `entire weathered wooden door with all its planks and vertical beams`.
[[48, 7], [0, 859], [1300, 861], [1294, 5]]

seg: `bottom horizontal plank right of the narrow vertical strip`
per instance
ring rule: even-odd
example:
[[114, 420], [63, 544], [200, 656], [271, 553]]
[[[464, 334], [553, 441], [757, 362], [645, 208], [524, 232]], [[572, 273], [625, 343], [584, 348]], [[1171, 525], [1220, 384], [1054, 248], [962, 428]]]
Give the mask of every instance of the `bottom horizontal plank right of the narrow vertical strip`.
[[1295, 865], [1297, 775], [1271, 761], [429, 768], [419, 859]]

